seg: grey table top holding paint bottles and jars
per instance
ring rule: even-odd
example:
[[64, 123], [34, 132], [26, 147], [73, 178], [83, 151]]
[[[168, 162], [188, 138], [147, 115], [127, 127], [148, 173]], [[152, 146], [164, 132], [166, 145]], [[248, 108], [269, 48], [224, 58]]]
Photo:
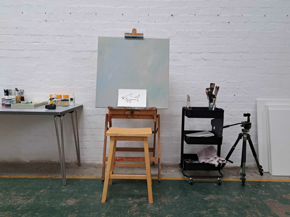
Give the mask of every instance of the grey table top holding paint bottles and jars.
[[[44, 107], [44, 106], [37, 106]], [[71, 111], [75, 111], [78, 108], [82, 108], [83, 105], [70, 105], [70, 106], [57, 106], [56, 109], [46, 108], [9, 108], [5, 106], [0, 107], [0, 115], [64, 115]]]

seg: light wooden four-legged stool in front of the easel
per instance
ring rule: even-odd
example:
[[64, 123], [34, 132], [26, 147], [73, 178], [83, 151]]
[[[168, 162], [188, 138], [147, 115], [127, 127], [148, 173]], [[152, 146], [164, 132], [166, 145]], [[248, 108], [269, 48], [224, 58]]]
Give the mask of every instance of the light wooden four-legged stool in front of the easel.
[[[110, 148], [108, 153], [108, 163], [106, 168], [102, 203], [106, 203], [108, 185], [113, 183], [113, 179], [147, 179], [149, 203], [153, 203], [152, 180], [149, 161], [148, 138], [152, 136], [151, 128], [119, 128], [110, 127], [106, 133], [110, 136]], [[117, 141], [144, 141], [145, 163], [115, 163], [115, 153]], [[114, 166], [119, 167], [146, 167], [146, 175], [121, 175], [113, 174]]]

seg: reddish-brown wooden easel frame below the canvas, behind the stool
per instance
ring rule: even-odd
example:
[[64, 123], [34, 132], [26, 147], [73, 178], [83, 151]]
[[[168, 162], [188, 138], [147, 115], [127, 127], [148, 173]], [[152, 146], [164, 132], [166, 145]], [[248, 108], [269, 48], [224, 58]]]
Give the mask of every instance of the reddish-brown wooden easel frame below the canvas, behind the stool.
[[[106, 132], [109, 127], [112, 126], [112, 119], [153, 119], [154, 122], [154, 134], [153, 136], [153, 148], [149, 148], [149, 152], [153, 152], [153, 157], [149, 157], [150, 162], [158, 162], [158, 181], [161, 181], [161, 173], [160, 173], [160, 115], [157, 115], [157, 109], [155, 107], [108, 107], [109, 112], [106, 114], [105, 120], [105, 135], [104, 135], [104, 152], [103, 152], [103, 166], [102, 166], [102, 181], [105, 180], [105, 163], [108, 160], [106, 157], [106, 146], [107, 146], [107, 136]], [[157, 125], [157, 128], [156, 128]], [[158, 133], [158, 157], [155, 157], [155, 144], [156, 144], [156, 133]], [[144, 148], [116, 148], [116, 151], [136, 151], [136, 152], [144, 152]], [[145, 161], [144, 157], [115, 157], [115, 161]], [[118, 164], [115, 164], [118, 166]], [[124, 166], [124, 164], [122, 165]], [[128, 164], [130, 166], [130, 164]]]

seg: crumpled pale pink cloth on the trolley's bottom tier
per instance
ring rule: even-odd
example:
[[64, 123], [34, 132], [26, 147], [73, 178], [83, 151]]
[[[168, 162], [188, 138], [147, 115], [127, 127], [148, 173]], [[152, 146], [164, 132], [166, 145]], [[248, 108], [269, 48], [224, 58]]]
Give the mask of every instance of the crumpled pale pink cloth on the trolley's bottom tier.
[[197, 157], [200, 163], [211, 163], [216, 167], [218, 166], [218, 163], [226, 163], [225, 159], [218, 157], [217, 150], [215, 150], [215, 147], [213, 146], [207, 146], [198, 151]]

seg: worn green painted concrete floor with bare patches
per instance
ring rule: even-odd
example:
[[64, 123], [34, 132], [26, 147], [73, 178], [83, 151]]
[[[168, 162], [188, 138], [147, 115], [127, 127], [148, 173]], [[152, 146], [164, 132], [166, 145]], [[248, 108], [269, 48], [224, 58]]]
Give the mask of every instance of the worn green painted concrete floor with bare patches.
[[290, 182], [0, 178], [0, 216], [290, 216]]

